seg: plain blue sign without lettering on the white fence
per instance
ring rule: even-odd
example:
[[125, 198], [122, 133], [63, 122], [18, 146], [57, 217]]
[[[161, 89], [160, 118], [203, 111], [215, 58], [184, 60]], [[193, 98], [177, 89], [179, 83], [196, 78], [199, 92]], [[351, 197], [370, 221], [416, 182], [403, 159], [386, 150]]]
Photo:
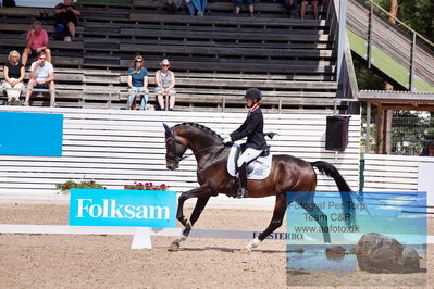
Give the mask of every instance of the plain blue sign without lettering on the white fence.
[[62, 156], [63, 114], [0, 112], [0, 155]]

